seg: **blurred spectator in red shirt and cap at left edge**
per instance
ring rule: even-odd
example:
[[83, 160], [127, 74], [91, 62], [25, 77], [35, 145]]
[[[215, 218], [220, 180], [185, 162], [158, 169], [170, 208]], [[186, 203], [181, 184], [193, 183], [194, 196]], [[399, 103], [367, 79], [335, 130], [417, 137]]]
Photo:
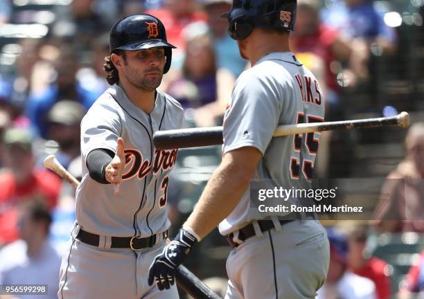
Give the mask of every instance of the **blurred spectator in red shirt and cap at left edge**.
[[58, 200], [61, 181], [55, 174], [34, 167], [32, 139], [28, 131], [8, 129], [3, 135], [5, 169], [0, 173], [0, 246], [19, 237], [16, 229], [19, 204], [40, 199], [52, 209]]

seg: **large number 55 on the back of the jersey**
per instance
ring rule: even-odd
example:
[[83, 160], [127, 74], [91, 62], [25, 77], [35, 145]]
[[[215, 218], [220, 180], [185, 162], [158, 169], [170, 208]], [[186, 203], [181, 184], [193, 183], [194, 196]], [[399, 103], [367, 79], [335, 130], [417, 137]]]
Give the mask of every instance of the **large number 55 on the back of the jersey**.
[[[322, 123], [324, 118], [318, 116], [307, 116], [308, 123]], [[305, 123], [305, 114], [299, 112], [297, 114], [297, 124]], [[310, 159], [303, 157], [300, 158], [302, 143], [305, 143], [306, 148], [308, 149], [308, 154]], [[319, 139], [315, 138], [315, 133], [306, 134], [306, 140], [303, 141], [303, 134], [295, 134], [293, 136], [293, 147], [294, 147], [294, 156], [291, 157], [290, 161], [290, 174], [292, 179], [299, 179], [300, 172], [302, 170], [303, 176], [306, 179], [312, 179], [314, 172], [314, 162], [315, 156], [318, 152]]]

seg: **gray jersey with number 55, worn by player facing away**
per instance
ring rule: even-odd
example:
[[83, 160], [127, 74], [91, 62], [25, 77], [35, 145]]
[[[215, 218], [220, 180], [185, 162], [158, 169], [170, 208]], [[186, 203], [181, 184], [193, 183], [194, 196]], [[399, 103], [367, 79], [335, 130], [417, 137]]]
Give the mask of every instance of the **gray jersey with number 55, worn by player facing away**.
[[[256, 147], [262, 154], [253, 180], [267, 188], [308, 189], [319, 133], [272, 138], [278, 125], [324, 121], [324, 96], [312, 73], [293, 53], [271, 53], [240, 75], [224, 115], [223, 153]], [[227, 235], [264, 213], [250, 206], [249, 189], [220, 223]], [[289, 203], [296, 204], [296, 197]], [[283, 215], [283, 214], [281, 214]]]

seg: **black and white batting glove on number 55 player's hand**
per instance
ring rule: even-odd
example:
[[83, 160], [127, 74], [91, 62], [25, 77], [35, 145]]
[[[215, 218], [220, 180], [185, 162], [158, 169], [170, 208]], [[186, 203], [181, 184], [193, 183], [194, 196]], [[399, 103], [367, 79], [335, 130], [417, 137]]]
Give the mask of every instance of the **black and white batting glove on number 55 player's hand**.
[[169, 289], [175, 282], [175, 269], [190, 253], [191, 246], [197, 242], [195, 236], [181, 228], [172, 242], [164, 247], [161, 254], [154, 257], [149, 269], [149, 285], [156, 281], [159, 290]]

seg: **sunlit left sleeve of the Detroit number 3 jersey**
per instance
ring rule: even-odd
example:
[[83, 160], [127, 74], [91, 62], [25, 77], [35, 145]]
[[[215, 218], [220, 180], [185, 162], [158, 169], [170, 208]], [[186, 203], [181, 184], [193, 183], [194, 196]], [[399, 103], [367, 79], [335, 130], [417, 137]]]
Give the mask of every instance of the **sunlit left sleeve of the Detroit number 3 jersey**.
[[93, 149], [116, 152], [116, 141], [122, 133], [118, 107], [98, 100], [81, 121], [81, 153], [84, 161]]

